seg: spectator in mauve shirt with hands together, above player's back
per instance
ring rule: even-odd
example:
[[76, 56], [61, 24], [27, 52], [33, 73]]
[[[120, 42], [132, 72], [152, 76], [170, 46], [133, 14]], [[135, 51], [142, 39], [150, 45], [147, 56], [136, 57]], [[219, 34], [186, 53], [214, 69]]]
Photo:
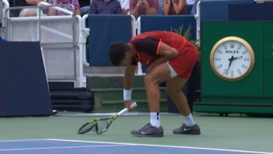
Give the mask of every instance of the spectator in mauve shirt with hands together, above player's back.
[[158, 0], [130, 0], [130, 14], [136, 19], [139, 15], [156, 15], [158, 6]]

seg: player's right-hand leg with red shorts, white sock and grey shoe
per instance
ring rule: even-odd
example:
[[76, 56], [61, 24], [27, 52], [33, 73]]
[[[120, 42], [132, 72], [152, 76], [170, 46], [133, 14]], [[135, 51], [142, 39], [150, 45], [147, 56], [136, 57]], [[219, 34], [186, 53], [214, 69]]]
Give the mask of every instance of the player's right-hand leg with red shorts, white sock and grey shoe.
[[195, 47], [190, 43], [184, 46], [182, 52], [184, 52], [184, 54], [169, 62], [171, 72], [175, 71], [177, 76], [168, 80], [166, 89], [167, 94], [174, 100], [179, 111], [185, 116], [183, 125], [178, 129], [175, 129], [173, 133], [200, 134], [200, 127], [195, 124], [193, 116], [190, 113], [188, 100], [183, 92], [181, 92], [182, 87], [185, 85], [188, 78], [190, 78], [193, 67], [197, 62], [198, 53]]

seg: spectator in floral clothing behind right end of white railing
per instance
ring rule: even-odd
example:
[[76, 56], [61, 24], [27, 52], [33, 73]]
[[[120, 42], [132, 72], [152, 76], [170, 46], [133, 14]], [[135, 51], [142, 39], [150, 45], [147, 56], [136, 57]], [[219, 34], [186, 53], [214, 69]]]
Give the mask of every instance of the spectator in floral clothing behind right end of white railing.
[[[49, 0], [49, 3], [52, 5], [60, 5], [60, 8], [64, 8], [66, 10], [71, 10], [73, 12], [73, 6], [75, 8], [75, 14], [80, 15], [80, 4], [78, 0]], [[67, 5], [71, 4], [71, 5]], [[49, 8], [48, 15], [66, 15], [62, 11], [55, 10], [54, 8]]]

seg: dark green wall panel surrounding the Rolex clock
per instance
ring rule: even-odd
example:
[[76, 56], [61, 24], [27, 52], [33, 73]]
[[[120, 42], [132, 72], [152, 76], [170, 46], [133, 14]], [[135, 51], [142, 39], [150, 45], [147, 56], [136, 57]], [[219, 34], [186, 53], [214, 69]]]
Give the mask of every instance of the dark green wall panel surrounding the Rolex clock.
[[[202, 99], [200, 103], [195, 104], [199, 105], [195, 106], [195, 111], [202, 111], [200, 105], [206, 104], [241, 106], [241, 112], [244, 111], [244, 106], [273, 108], [273, 22], [202, 22], [201, 29]], [[216, 42], [227, 36], [243, 38], [253, 48], [253, 70], [242, 80], [223, 80], [211, 69], [211, 49]], [[207, 110], [208, 108], [204, 109]], [[239, 111], [240, 109], [236, 112]]]

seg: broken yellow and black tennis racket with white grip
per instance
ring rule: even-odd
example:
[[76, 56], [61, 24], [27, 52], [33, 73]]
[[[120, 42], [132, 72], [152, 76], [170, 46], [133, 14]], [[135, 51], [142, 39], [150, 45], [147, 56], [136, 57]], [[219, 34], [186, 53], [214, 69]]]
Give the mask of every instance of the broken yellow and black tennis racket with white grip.
[[[130, 106], [130, 108], [134, 108], [134, 107], [137, 107], [137, 102], [132, 103]], [[80, 127], [80, 129], [78, 130], [78, 134], [85, 134], [89, 132], [90, 130], [92, 132], [96, 132], [97, 134], [102, 134], [108, 130], [111, 123], [113, 123], [113, 121], [116, 120], [118, 116], [122, 115], [123, 113], [127, 111], [129, 111], [129, 109], [125, 108], [113, 116], [110, 116], [107, 118], [92, 119], [88, 121], [87, 123], [85, 123], [82, 127]]]

